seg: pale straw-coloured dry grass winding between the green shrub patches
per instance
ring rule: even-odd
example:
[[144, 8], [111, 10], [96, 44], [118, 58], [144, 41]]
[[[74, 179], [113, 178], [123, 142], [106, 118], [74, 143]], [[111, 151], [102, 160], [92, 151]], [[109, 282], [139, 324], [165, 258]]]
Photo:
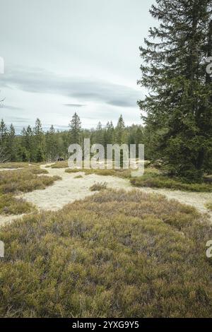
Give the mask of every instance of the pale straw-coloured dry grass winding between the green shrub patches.
[[[69, 170], [66, 165], [64, 165], [64, 167], [52, 168], [52, 166], [54, 167], [55, 165], [55, 163], [40, 165], [40, 169], [46, 170], [48, 174], [45, 175], [49, 177], [59, 177], [59, 181], [54, 182], [45, 189], [37, 189], [28, 193], [18, 194], [16, 198], [23, 198], [23, 200], [32, 203], [39, 210], [57, 211], [68, 203], [92, 195], [93, 191], [90, 191], [90, 186], [95, 183], [105, 182], [107, 189], [124, 189], [129, 191], [135, 188], [130, 183], [129, 179], [104, 175], [104, 170], [101, 170], [101, 175], [95, 174], [95, 171], [92, 173], [92, 170], [90, 170], [90, 174], [86, 174], [83, 170], [81, 172], [65, 172]], [[18, 167], [18, 165], [16, 165], [16, 167], [17, 168], [1, 168], [0, 170], [14, 171], [22, 169]], [[107, 170], [105, 174], [108, 174]], [[37, 174], [37, 176], [40, 176], [40, 174]], [[161, 194], [168, 199], [175, 199], [180, 203], [191, 205], [201, 213], [208, 213], [212, 223], [212, 211], [207, 206], [208, 202], [211, 201], [211, 193], [157, 189], [146, 186], [140, 188], [140, 190], [147, 194]], [[18, 215], [0, 215], [0, 225], [16, 218], [18, 218]]]

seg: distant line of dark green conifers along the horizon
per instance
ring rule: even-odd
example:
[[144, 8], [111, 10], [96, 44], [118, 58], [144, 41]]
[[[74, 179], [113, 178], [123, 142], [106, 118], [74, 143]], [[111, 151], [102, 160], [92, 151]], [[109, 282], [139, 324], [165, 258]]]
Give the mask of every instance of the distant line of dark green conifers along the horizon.
[[43, 162], [68, 158], [68, 147], [71, 143], [83, 144], [84, 138], [90, 138], [90, 145], [107, 144], [139, 144], [148, 143], [151, 153], [151, 136], [141, 125], [125, 126], [122, 115], [114, 126], [108, 121], [106, 126], [99, 122], [96, 129], [82, 129], [78, 114], [73, 114], [68, 131], [56, 131], [51, 126], [48, 131], [42, 129], [40, 119], [35, 126], [23, 128], [16, 135], [13, 124], [6, 126], [4, 120], [0, 124], [0, 161], [1, 162]]

